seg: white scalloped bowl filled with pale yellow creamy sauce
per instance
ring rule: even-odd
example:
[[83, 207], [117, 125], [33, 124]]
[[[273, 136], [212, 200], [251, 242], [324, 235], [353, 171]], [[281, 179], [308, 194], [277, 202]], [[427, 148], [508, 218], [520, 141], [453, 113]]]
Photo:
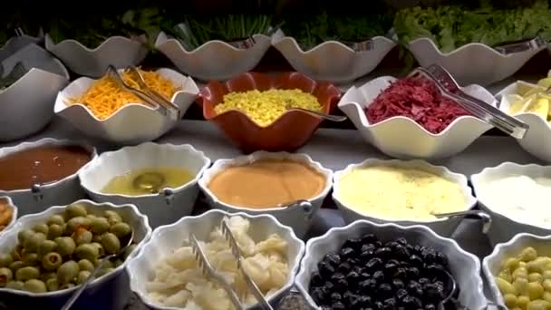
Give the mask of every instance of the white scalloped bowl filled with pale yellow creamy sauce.
[[424, 160], [365, 160], [333, 176], [333, 200], [346, 223], [368, 219], [402, 226], [425, 225], [449, 237], [460, 217], [436, 215], [474, 208], [468, 179]]

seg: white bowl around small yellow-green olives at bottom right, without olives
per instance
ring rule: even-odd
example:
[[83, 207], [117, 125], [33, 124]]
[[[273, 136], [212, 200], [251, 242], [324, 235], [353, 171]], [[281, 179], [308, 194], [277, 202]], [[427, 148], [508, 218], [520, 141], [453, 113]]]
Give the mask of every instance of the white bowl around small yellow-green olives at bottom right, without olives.
[[[499, 268], [509, 257], [516, 257], [522, 252], [525, 247], [534, 247], [538, 255], [551, 257], [551, 251], [549, 246], [551, 245], [551, 236], [538, 237], [531, 234], [523, 233], [517, 234], [507, 243], [499, 243], [494, 247], [494, 251], [484, 257], [482, 261], [482, 271], [486, 277], [486, 281], [489, 286], [490, 293], [493, 300], [498, 305], [505, 306], [501, 291], [499, 291], [498, 284], [496, 283], [495, 276], [498, 276]], [[505, 308], [507, 309], [507, 307]]]

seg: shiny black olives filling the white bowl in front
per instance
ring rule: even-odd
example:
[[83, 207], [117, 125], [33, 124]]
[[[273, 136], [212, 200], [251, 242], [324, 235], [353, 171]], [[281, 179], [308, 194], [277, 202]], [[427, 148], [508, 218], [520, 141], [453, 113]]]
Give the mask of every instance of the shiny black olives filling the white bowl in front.
[[448, 273], [447, 258], [431, 247], [367, 234], [325, 255], [309, 292], [323, 309], [438, 309], [452, 291]]

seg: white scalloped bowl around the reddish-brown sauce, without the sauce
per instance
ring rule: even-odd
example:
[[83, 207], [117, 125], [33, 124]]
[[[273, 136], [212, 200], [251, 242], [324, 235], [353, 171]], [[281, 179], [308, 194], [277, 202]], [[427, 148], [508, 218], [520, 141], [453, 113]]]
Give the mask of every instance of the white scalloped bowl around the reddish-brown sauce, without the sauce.
[[[71, 140], [55, 140], [45, 138], [34, 142], [23, 142], [14, 147], [0, 148], [0, 158], [6, 155], [21, 151], [34, 149], [43, 145], [76, 145], [88, 150], [91, 156], [90, 162], [97, 156], [96, 149], [90, 145], [71, 141]], [[82, 168], [90, 164], [88, 162]], [[81, 170], [82, 170], [81, 168]], [[84, 198], [84, 191], [78, 180], [78, 171], [65, 179], [60, 179], [46, 185], [40, 185], [36, 189], [15, 189], [1, 190], [0, 196], [8, 196], [14, 201], [14, 205], [18, 208], [19, 216], [27, 214], [39, 213], [51, 206], [63, 206], [72, 203], [74, 200]]]

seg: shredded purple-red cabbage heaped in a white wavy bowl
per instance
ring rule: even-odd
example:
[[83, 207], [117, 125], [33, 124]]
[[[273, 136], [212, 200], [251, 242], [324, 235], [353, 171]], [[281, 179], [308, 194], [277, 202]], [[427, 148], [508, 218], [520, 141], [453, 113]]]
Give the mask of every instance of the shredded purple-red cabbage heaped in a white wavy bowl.
[[438, 134], [460, 116], [471, 115], [458, 102], [443, 96], [436, 84], [421, 77], [391, 83], [365, 109], [370, 124], [405, 116], [425, 130]]

